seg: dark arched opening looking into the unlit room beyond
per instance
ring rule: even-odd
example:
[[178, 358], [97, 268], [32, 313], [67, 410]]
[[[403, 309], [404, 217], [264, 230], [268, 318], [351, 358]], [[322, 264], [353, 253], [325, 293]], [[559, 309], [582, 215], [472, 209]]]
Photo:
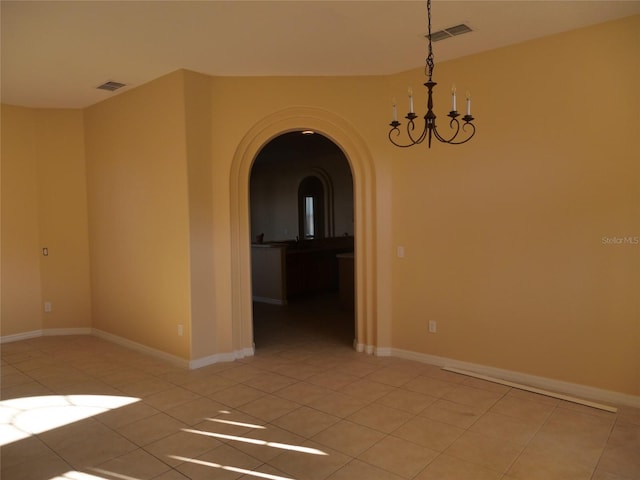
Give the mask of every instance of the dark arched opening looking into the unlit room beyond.
[[256, 349], [353, 344], [353, 175], [344, 152], [319, 133], [278, 135], [253, 162], [249, 198]]

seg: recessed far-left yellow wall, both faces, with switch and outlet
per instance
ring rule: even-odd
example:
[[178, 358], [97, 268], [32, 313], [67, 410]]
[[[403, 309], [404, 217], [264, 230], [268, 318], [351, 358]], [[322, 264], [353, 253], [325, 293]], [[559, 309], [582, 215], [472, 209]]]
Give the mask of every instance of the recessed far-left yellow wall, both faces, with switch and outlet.
[[3, 105], [2, 127], [2, 335], [88, 328], [83, 114]]

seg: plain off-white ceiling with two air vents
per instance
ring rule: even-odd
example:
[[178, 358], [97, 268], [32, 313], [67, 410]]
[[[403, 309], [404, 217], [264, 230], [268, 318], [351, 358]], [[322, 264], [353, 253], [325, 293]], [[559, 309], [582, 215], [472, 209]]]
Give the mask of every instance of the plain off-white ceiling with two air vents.
[[[424, 65], [423, 0], [7, 1], [2, 101], [82, 108], [185, 68], [218, 76], [381, 75]], [[640, 0], [434, 0], [439, 61], [640, 14]], [[122, 89], [125, 90], [125, 89]], [[121, 91], [122, 91], [121, 90]]]

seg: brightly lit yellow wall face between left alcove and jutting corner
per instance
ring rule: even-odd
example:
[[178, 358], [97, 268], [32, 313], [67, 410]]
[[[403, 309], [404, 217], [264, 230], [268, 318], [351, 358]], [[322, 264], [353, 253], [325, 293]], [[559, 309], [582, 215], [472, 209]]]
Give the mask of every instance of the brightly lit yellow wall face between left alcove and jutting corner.
[[189, 359], [183, 72], [87, 108], [85, 128], [93, 326]]

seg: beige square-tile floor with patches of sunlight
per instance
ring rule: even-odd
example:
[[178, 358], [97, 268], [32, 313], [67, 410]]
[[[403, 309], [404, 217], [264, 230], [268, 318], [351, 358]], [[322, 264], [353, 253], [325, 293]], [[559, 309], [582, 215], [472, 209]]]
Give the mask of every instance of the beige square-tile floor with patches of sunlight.
[[358, 354], [332, 301], [255, 317], [254, 357], [193, 371], [91, 336], [2, 345], [1, 477], [640, 479], [640, 409]]

